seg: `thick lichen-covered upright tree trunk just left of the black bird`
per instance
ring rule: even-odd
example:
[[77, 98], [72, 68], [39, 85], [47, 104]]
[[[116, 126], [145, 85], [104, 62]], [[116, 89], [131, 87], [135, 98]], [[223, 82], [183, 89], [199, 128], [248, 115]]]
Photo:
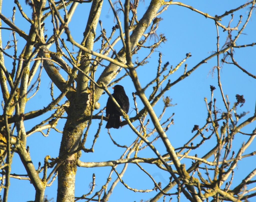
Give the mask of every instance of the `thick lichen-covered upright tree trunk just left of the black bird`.
[[[94, 0], [91, 6], [89, 19], [82, 45], [88, 49], [93, 49], [95, 38], [95, 30], [99, 21], [103, 0]], [[82, 53], [84, 55], [84, 53]], [[86, 59], [90, 59], [91, 55], [85, 54]], [[81, 58], [80, 58], [81, 59]], [[80, 60], [79, 59], [79, 60]], [[90, 61], [83, 63], [81, 61], [80, 68], [88, 73], [90, 69]], [[77, 92], [75, 98], [69, 99], [70, 106], [68, 109], [68, 119], [63, 130], [59, 157], [67, 153], [75, 151], [81, 141], [83, 130], [86, 122], [82, 122], [84, 115], [91, 114], [91, 90], [88, 89], [88, 79], [81, 73], [78, 73]], [[74, 201], [75, 177], [77, 171], [77, 153], [69, 155], [69, 157], [58, 168], [58, 194], [57, 201]]]

